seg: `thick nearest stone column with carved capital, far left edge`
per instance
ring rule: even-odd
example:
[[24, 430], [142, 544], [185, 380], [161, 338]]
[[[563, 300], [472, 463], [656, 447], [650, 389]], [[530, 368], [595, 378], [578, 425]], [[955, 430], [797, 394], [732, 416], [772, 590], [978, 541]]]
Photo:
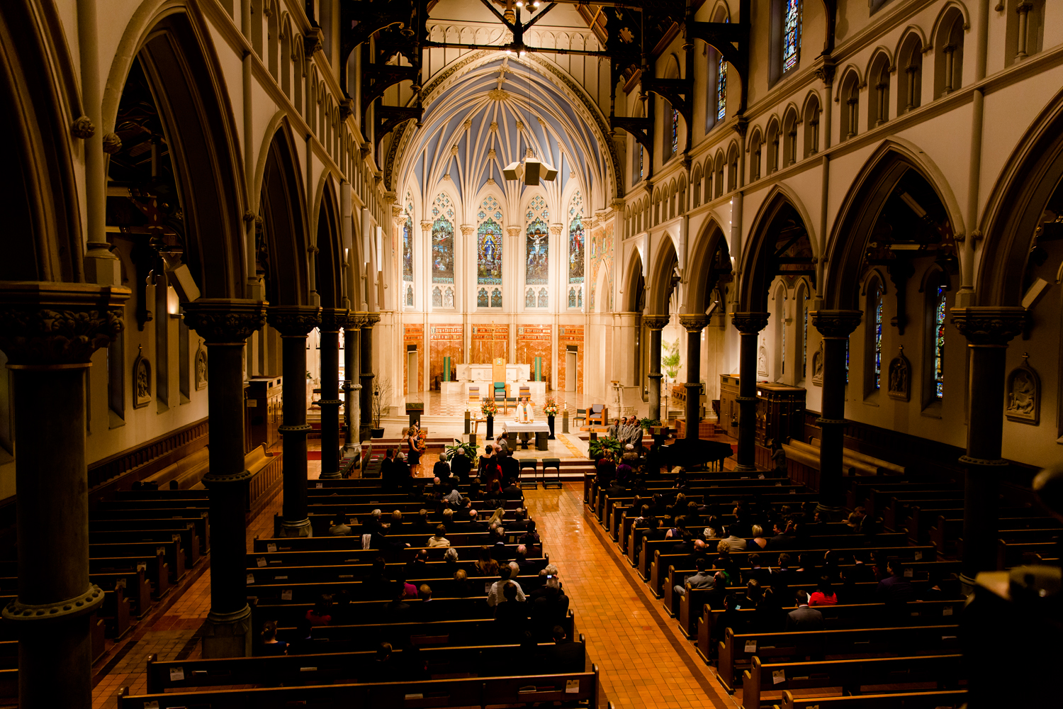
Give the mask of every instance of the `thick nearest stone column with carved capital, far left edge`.
[[0, 350], [15, 413], [20, 707], [92, 706], [85, 377], [92, 353], [121, 332], [129, 288], [0, 282]]

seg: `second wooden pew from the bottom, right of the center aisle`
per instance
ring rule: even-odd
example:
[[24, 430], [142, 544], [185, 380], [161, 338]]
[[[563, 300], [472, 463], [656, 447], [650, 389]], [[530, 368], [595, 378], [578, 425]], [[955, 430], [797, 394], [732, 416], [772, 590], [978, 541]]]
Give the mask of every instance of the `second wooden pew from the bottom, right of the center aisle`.
[[753, 666], [742, 673], [742, 707], [760, 709], [763, 693], [806, 688], [841, 687], [843, 694], [859, 694], [864, 686], [934, 682], [939, 689], [954, 689], [962, 659], [927, 655], [761, 663], [754, 657]]

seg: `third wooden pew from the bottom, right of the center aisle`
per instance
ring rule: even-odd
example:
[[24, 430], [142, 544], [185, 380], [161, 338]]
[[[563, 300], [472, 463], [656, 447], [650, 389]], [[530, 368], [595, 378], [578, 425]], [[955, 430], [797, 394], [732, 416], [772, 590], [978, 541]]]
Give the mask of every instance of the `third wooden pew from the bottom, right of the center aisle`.
[[799, 632], [746, 632], [735, 635], [727, 628], [718, 645], [716, 678], [733, 694], [738, 673], [756, 656], [761, 662], [789, 662], [830, 655], [946, 655], [960, 652], [959, 625], [806, 630]]

